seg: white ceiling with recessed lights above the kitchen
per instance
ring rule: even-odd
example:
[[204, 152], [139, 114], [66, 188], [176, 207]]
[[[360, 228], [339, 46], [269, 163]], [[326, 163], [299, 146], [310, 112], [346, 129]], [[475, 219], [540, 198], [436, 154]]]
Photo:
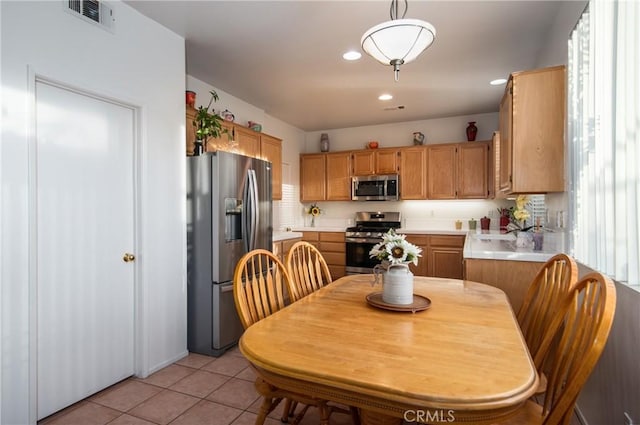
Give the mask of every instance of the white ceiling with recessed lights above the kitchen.
[[496, 112], [504, 86], [489, 81], [536, 67], [561, 8], [577, 19], [585, 2], [410, 0], [406, 17], [437, 36], [398, 82], [366, 54], [342, 59], [389, 20], [390, 1], [127, 3], [185, 38], [189, 75], [315, 131]]

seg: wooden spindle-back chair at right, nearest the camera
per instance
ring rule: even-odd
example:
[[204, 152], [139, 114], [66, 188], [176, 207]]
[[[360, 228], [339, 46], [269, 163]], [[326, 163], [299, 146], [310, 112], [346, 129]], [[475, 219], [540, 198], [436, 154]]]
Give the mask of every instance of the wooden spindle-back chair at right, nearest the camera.
[[[607, 342], [616, 308], [611, 279], [590, 273], [569, 291], [534, 361], [545, 363], [547, 390], [540, 404], [528, 400], [504, 425], [568, 425], [582, 386]], [[553, 343], [551, 350], [546, 350]]]

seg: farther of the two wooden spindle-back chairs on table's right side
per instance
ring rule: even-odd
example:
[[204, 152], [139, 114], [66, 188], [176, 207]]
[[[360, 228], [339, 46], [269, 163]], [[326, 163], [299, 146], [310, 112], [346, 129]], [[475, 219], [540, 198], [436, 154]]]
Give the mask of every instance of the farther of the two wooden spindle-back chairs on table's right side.
[[[574, 259], [566, 254], [557, 254], [542, 266], [529, 285], [518, 311], [518, 323], [533, 359], [544, 357], [545, 353], [540, 353], [542, 340], [547, 333], [555, 333], [552, 321], [577, 279], [578, 266]], [[547, 385], [541, 367], [536, 363], [540, 375], [538, 394], [543, 393]]]

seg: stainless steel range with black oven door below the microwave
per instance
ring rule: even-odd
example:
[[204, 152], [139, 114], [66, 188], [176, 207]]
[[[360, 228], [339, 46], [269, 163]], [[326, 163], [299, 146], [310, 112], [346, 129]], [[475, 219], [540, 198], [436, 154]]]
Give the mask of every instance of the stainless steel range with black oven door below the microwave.
[[359, 212], [356, 213], [356, 225], [347, 228], [346, 273], [373, 273], [378, 260], [369, 257], [369, 251], [389, 229], [400, 228], [399, 212]]

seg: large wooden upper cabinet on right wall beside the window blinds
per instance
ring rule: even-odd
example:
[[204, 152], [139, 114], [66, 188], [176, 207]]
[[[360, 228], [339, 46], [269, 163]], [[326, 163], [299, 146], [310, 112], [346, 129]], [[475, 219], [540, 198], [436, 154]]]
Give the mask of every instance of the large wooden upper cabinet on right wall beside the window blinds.
[[564, 191], [565, 67], [511, 74], [500, 103], [500, 189]]

